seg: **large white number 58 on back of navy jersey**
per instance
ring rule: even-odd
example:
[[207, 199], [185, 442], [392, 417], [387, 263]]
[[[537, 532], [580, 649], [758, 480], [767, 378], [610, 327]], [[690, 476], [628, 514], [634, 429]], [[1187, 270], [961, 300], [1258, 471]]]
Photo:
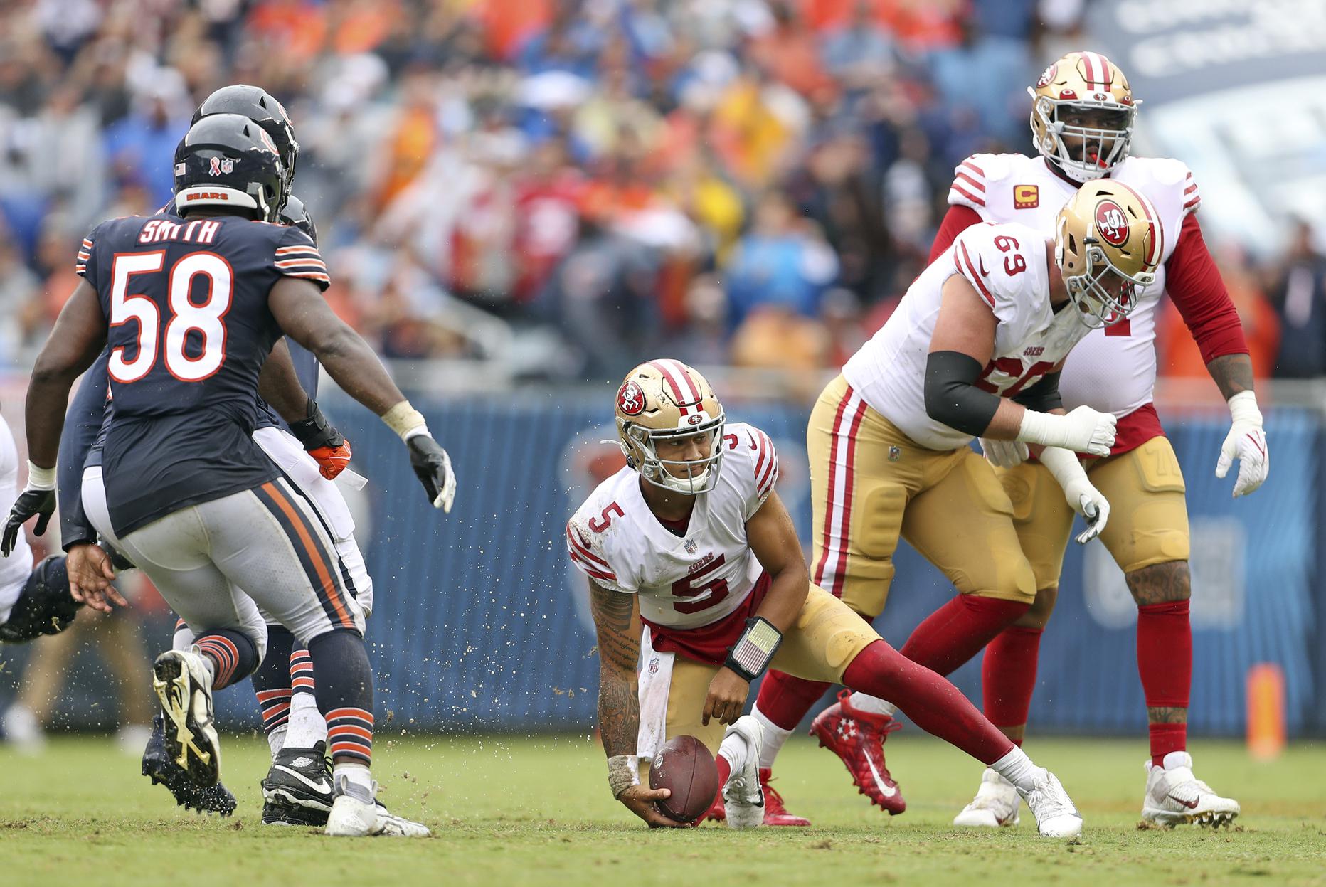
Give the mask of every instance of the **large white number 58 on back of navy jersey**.
[[[129, 321], [138, 324], [138, 350], [126, 359], [123, 347], [110, 354], [110, 378], [121, 383], [138, 382], [156, 365], [162, 339], [160, 310], [147, 296], [130, 293], [138, 274], [160, 273], [166, 252], [119, 253], [110, 269], [110, 325]], [[207, 278], [207, 301], [196, 304], [190, 298], [194, 278]], [[180, 382], [202, 382], [216, 374], [225, 363], [225, 324], [221, 318], [231, 308], [235, 278], [228, 261], [212, 252], [195, 252], [182, 257], [170, 269], [167, 301], [171, 318], [164, 330], [166, 370]], [[192, 330], [202, 333], [202, 353], [190, 357], [184, 345]]]

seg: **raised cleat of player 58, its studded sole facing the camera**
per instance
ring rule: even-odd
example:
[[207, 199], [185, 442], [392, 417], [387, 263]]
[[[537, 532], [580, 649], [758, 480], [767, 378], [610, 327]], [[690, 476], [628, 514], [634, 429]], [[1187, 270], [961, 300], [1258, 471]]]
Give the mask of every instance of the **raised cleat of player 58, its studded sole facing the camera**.
[[162, 704], [166, 753], [195, 784], [216, 785], [221, 745], [212, 717], [212, 670], [198, 647], [156, 656], [152, 689]]

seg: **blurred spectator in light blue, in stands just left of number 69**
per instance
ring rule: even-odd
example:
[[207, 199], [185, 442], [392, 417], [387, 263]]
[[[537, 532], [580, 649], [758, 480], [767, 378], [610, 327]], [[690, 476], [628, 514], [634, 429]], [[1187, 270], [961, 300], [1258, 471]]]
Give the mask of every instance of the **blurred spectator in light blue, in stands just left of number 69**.
[[788, 198], [769, 191], [756, 209], [754, 225], [741, 239], [723, 274], [731, 320], [740, 325], [757, 308], [780, 306], [815, 317], [819, 293], [838, 276], [838, 259], [818, 225], [796, 216]]

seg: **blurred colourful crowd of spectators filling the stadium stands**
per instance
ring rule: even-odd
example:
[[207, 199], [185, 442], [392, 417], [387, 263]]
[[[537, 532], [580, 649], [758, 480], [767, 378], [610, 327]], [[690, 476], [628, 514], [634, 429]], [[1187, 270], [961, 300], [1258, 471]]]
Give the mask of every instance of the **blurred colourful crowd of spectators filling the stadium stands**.
[[[1025, 86], [1087, 45], [1085, 7], [0, 0], [0, 363], [91, 224], [170, 198], [198, 102], [251, 82], [294, 119], [329, 298], [387, 357], [835, 367], [924, 265], [953, 166], [1030, 150]], [[1307, 229], [1216, 252], [1258, 371], [1326, 374]], [[1166, 322], [1162, 367], [1203, 375]]]

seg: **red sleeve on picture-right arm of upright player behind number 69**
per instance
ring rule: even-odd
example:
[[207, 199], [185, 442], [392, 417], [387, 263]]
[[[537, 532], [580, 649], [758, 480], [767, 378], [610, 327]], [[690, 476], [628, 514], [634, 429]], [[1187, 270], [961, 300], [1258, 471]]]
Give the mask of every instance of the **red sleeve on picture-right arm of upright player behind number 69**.
[[1248, 354], [1238, 312], [1192, 212], [1184, 216], [1179, 243], [1166, 263], [1166, 292], [1196, 339], [1204, 363], [1225, 354]]

